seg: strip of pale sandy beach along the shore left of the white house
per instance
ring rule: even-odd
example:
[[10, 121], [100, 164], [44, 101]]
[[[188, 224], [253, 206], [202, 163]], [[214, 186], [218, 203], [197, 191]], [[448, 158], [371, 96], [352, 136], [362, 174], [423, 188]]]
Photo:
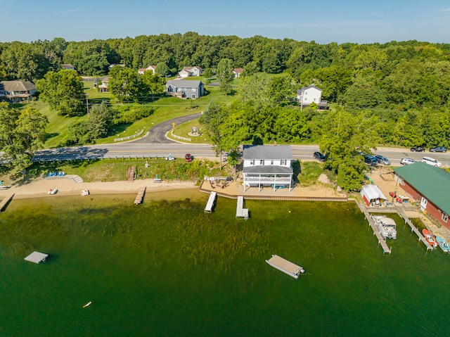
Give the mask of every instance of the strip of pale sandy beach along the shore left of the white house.
[[170, 191], [179, 189], [198, 189], [194, 182], [160, 182], [155, 183], [153, 179], [142, 179], [134, 182], [82, 182], [76, 183], [70, 179], [45, 179], [37, 178], [32, 182], [22, 185], [11, 186], [9, 189], [0, 190], [0, 199], [14, 193], [14, 198], [39, 198], [49, 196], [50, 189], [58, 189], [61, 196], [79, 196], [81, 191], [87, 189], [94, 194], [126, 194], [137, 193], [142, 186], [147, 187], [147, 191]]

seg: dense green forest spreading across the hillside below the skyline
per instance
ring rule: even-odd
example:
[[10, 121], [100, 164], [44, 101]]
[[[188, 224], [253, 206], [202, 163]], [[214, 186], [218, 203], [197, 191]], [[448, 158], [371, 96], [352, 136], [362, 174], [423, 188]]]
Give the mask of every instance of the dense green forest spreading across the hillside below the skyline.
[[[106, 75], [112, 63], [126, 65], [123, 70], [113, 68], [112, 83], [117, 80], [121, 91], [124, 82], [136, 85], [125, 96], [117, 95], [118, 101], [131, 94], [160, 94], [165, 75], [175, 75], [184, 66], [200, 66], [207, 74], [244, 68], [245, 77], [224, 90], [236, 98], [233, 103], [210, 105], [209, 121], [219, 117], [221, 121], [220, 125], [210, 125], [211, 131], [220, 135], [217, 141], [221, 144], [216, 146], [226, 150], [243, 141], [315, 142], [321, 151], [333, 156], [328, 166], [347, 177], [364, 171], [364, 161], [355, 160], [354, 153], [369, 153], [379, 144], [450, 145], [450, 44], [415, 40], [316, 44], [195, 32], [86, 42], [56, 38], [0, 43], [0, 80], [37, 82], [38, 89], [53, 90], [42, 95], [49, 103], [55, 93], [63, 94], [56, 85], [49, 86], [51, 79], [70, 80], [79, 91], [81, 78], [61, 72], [63, 63], [74, 65], [78, 75], [86, 76]], [[148, 65], [157, 65], [160, 78], [137, 75], [137, 69]], [[331, 110], [317, 112], [314, 106], [302, 110], [297, 106], [295, 91], [310, 84], [322, 89], [322, 99], [332, 103]], [[72, 98], [84, 99], [78, 91]], [[73, 112], [71, 104], [82, 106], [76, 102], [61, 106], [59, 98], [54, 103], [68, 117]], [[105, 125], [106, 119], [117, 119], [108, 107], [98, 112]], [[89, 125], [96, 123], [93, 119], [74, 125], [72, 144], [105, 134], [98, 127], [89, 131]], [[77, 136], [84, 129], [90, 136]], [[351, 186], [347, 184], [347, 188]]]

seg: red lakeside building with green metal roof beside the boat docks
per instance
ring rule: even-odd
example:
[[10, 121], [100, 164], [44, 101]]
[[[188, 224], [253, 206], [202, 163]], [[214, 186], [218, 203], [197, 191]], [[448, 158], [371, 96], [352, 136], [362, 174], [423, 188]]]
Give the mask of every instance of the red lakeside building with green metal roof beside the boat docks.
[[397, 167], [397, 184], [420, 204], [420, 210], [450, 229], [450, 173], [425, 163]]

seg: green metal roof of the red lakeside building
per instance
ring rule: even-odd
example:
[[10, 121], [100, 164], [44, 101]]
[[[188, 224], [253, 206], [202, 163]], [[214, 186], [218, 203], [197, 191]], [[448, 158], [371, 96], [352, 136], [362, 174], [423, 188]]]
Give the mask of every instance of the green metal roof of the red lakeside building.
[[425, 163], [397, 167], [394, 172], [434, 203], [450, 214], [450, 173]]

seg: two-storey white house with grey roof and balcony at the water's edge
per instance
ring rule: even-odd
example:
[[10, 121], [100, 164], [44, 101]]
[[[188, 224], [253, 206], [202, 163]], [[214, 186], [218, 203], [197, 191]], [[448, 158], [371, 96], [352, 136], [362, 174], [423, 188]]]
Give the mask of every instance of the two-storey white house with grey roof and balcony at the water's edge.
[[290, 145], [257, 145], [244, 148], [243, 185], [247, 187], [292, 188], [293, 153]]

